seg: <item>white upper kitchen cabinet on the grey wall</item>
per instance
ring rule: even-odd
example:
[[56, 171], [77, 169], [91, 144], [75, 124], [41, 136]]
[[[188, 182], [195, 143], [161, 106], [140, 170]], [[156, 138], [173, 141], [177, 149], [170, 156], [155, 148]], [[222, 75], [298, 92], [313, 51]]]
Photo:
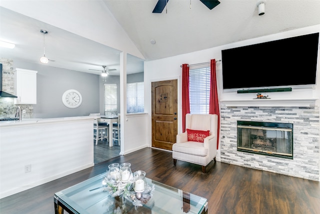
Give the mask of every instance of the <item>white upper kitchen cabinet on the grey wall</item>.
[[14, 104], [36, 104], [37, 71], [16, 68], [14, 71], [14, 90], [17, 98]]

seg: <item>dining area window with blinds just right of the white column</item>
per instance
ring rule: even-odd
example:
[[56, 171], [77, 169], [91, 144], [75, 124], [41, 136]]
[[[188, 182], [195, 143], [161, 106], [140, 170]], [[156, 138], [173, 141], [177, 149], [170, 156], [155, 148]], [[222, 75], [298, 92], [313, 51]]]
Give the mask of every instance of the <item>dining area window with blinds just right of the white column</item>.
[[126, 84], [126, 113], [144, 112], [144, 83]]

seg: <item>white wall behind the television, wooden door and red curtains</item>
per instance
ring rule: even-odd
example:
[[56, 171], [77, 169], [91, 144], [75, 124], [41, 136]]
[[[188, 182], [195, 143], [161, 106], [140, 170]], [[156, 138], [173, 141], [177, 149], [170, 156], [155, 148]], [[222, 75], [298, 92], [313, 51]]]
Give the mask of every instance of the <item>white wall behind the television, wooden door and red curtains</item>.
[[[164, 58], [155, 61], [149, 61], [144, 63], [144, 110], [148, 113], [148, 121], [151, 121], [151, 82], [161, 81], [167, 79], [177, 79], [181, 77], [181, 64], [197, 64], [203, 62], [210, 62], [210, 59], [220, 60], [221, 59], [221, 50], [235, 48], [245, 45], [257, 44], [261, 42], [273, 41], [278, 39], [284, 39], [288, 37], [294, 37], [304, 34], [316, 33], [320, 32], [320, 25], [311, 26], [303, 29], [297, 29], [292, 31], [287, 31], [279, 34], [274, 34], [270, 36], [255, 38], [251, 40], [241, 41], [237, 43], [232, 43], [228, 45], [219, 46], [216, 48], [210, 48], [202, 51], [192, 52], [188, 54], [178, 55], [174, 57]], [[299, 60], [299, 56], [297, 56], [297, 60]], [[250, 63], [245, 61], [243, 62], [243, 66], [246, 63]], [[297, 63], [303, 63], [298, 61]], [[318, 70], [320, 68], [320, 63], [318, 63]], [[222, 89], [222, 64], [221, 62], [216, 63], [216, 74], [217, 74], [217, 88], [218, 88], [218, 97], [221, 99], [252, 99], [252, 94], [237, 94], [236, 90], [227, 91]], [[181, 79], [181, 78], [180, 78]], [[178, 82], [178, 88], [181, 87], [181, 80]], [[320, 75], [317, 74], [317, 85], [314, 88], [294, 88], [292, 92], [289, 93], [272, 93], [273, 98], [320, 98]], [[295, 89], [296, 88], [296, 89]], [[181, 103], [181, 96], [179, 92], [178, 102]], [[320, 100], [316, 101], [316, 105], [320, 104]], [[180, 105], [179, 105], [180, 106]], [[179, 127], [178, 132], [181, 132], [181, 106], [178, 112], [178, 120]], [[151, 146], [151, 123], [149, 123], [148, 127], [148, 139]], [[220, 148], [219, 148], [220, 149]], [[218, 151], [217, 160], [219, 160], [220, 151]]]

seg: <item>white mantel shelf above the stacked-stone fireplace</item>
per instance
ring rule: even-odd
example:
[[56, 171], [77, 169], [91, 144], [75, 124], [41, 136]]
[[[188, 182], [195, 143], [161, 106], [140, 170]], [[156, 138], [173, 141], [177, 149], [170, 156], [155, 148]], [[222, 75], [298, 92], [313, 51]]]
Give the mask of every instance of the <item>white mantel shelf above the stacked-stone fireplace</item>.
[[226, 107], [309, 107], [319, 98], [220, 100]]

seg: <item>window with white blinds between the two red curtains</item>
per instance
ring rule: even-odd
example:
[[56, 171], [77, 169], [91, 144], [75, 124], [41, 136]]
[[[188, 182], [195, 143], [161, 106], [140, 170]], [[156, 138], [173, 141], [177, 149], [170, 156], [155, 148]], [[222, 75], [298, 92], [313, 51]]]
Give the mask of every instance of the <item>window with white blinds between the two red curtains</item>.
[[189, 70], [191, 114], [208, 114], [210, 99], [210, 67]]

